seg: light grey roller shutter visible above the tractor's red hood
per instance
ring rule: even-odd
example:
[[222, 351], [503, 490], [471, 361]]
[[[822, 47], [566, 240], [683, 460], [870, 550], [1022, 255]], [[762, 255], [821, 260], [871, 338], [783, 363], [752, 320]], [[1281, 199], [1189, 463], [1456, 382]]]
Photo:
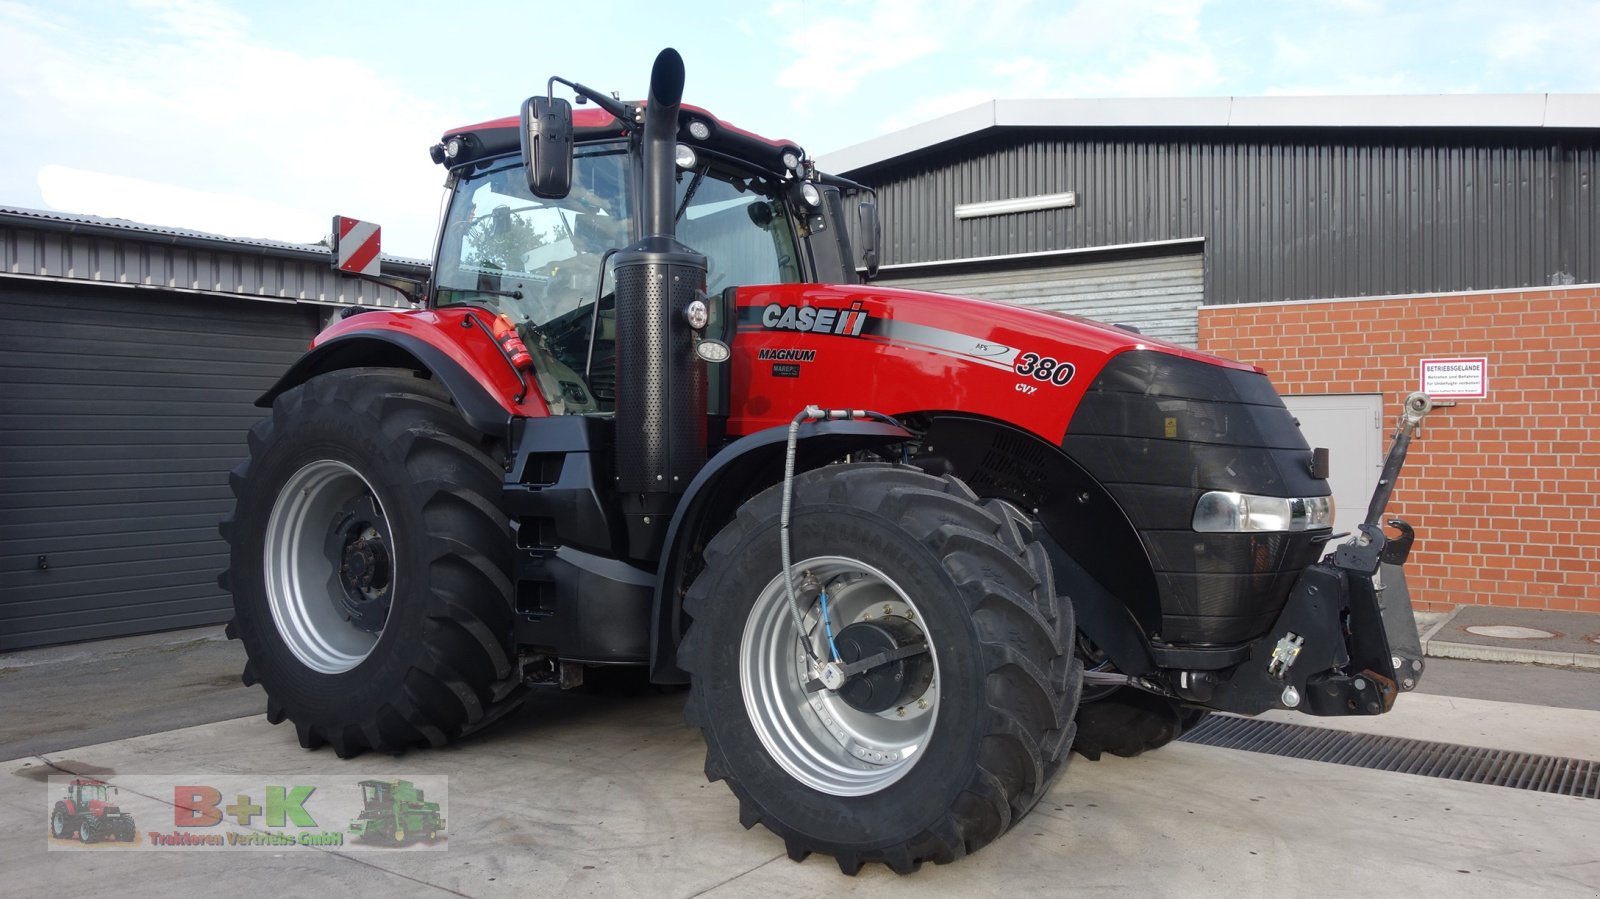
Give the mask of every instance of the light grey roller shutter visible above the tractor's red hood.
[[1198, 253], [1080, 262], [1051, 267], [928, 274], [882, 272], [877, 283], [896, 288], [997, 299], [1114, 325], [1133, 325], [1152, 338], [1195, 346], [1205, 301], [1205, 262]]

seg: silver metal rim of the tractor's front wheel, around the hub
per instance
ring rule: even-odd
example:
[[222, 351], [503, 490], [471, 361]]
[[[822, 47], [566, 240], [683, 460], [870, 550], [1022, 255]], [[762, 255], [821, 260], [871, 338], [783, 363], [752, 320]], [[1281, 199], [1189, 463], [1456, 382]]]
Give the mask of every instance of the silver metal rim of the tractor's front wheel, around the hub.
[[[922, 609], [886, 574], [843, 557], [814, 557], [794, 566], [811, 571], [829, 593], [834, 635], [878, 616], [922, 627]], [[827, 659], [819, 605], [805, 613], [806, 640]], [[933, 640], [928, 640], [933, 651]], [[762, 590], [739, 645], [744, 710], [762, 745], [802, 784], [835, 797], [875, 793], [899, 781], [923, 757], [939, 715], [939, 657], [922, 696], [885, 712], [862, 712], [827, 689], [806, 693], [811, 662], [789, 609], [782, 574]]]

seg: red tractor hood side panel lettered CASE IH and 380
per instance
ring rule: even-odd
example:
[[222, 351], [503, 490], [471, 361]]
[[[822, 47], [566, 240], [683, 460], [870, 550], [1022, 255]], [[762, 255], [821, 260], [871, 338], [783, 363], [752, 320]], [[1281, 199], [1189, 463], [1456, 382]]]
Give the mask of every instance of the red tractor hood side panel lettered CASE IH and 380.
[[1259, 374], [1075, 315], [877, 285], [738, 288], [734, 304], [730, 434], [814, 403], [981, 414], [1059, 445], [1088, 386], [1122, 354]]

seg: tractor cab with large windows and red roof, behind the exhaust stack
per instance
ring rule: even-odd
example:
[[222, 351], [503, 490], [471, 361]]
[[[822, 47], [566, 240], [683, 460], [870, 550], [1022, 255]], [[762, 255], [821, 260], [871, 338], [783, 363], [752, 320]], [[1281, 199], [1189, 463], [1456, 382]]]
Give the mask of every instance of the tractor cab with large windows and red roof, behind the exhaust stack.
[[[453, 131], [434, 154], [450, 166], [451, 194], [432, 306], [504, 315], [555, 414], [614, 408], [610, 262], [643, 237], [640, 131], [605, 110], [579, 110], [573, 122], [560, 197], [534, 190], [518, 120]], [[685, 107], [674, 162], [675, 232], [706, 256], [714, 325], [739, 286], [858, 280], [842, 250], [842, 187], [821, 182], [800, 147]]]

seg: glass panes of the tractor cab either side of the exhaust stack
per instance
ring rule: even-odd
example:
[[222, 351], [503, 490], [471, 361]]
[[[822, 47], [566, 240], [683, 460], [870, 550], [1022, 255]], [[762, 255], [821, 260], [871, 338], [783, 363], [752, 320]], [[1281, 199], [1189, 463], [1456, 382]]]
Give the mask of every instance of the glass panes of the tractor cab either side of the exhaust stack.
[[[560, 200], [528, 190], [518, 157], [459, 176], [438, 248], [437, 306], [506, 314], [534, 357], [552, 413], [608, 411], [616, 339], [602, 261], [637, 240], [630, 158], [622, 142], [578, 147]], [[677, 178], [677, 237], [704, 253], [707, 293], [802, 278], [781, 184], [704, 162]]]

